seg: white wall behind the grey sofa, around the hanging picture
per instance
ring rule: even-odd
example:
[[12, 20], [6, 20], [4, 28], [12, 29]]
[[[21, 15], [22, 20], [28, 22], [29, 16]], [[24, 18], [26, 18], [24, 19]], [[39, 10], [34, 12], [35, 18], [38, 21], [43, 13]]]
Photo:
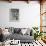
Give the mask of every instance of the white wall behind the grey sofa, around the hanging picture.
[[[9, 21], [9, 10], [19, 9], [19, 21]], [[0, 2], [0, 26], [32, 27], [40, 26], [40, 4], [38, 2]]]

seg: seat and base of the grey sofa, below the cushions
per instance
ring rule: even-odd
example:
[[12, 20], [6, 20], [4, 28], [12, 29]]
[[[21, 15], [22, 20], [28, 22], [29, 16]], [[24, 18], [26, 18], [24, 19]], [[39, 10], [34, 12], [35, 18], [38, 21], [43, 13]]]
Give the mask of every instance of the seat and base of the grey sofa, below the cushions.
[[30, 42], [33, 42], [33, 36], [29, 36], [29, 35], [21, 35], [21, 34], [11, 34], [9, 36], [9, 38], [12, 40], [12, 39], [15, 39], [15, 40], [20, 40], [21, 43], [30, 43]]

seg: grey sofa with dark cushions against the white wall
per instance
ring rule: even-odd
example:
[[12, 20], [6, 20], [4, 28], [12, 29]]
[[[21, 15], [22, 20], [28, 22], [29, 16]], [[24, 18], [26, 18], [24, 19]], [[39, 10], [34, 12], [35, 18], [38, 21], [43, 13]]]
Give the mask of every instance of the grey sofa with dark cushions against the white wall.
[[33, 42], [34, 37], [32, 36], [32, 31], [30, 31], [31, 35], [22, 34], [21, 29], [26, 29], [26, 28], [9, 28], [9, 32], [11, 33], [9, 36], [5, 37], [5, 39], [10, 38], [10, 40], [20, 40], [21, 43], [30, 43]]

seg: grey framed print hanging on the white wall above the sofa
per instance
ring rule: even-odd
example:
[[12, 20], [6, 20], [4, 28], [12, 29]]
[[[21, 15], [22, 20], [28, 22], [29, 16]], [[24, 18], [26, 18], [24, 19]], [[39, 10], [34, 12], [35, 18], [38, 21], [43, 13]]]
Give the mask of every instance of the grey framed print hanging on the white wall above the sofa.
[[10, 21], [18, 21], [19, 20], [19, 9], [10, 9]]

